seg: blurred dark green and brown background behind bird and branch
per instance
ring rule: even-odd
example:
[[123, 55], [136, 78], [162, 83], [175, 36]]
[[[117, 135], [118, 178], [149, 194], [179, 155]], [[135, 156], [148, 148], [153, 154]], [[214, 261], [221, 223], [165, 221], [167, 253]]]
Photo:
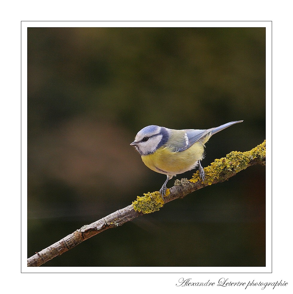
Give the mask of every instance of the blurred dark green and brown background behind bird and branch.
[[[28, 28], [28, 257], [160, 189], [129, 146], [141, 128], [241, 119], [203, 166], [265, 139], [265, 28]], [[43, 266], [265, 266], [265, 167]]]

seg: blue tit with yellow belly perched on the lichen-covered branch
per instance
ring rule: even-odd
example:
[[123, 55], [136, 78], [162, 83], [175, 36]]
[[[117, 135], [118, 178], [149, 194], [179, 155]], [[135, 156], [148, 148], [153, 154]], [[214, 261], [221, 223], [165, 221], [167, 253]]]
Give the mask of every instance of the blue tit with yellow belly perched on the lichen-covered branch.
[[228, 122], [207, 130], [172, 130], [149, 125], [137, 133], [130, 145], [135, 146], [148, 168], [167, 175], [167, 180], [160, 189], [160, 195], [164, 199], [167, 182], [177, 174], [199, 166], [200, 177], [204, 181], [204, 169], [200, 163], [204, 158], [204, 144], [213, 134], [239, 122], [243, 120]]

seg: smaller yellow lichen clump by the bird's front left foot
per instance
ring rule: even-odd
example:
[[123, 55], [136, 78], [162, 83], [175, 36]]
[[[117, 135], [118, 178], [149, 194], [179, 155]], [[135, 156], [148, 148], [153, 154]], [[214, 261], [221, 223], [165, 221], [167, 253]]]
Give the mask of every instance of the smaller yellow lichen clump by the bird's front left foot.
[[[166, 196], [170, 194], [170, 190], [167, 189]], [[133, 209], [142, 213], [152, 213], [154, 211], [160, 210], [163, 207], [164, 201], [162, 196], [158, 191], [153, 193], [144, 193], [144, 196], [137, 196], [136, 201], [132, 202]]]

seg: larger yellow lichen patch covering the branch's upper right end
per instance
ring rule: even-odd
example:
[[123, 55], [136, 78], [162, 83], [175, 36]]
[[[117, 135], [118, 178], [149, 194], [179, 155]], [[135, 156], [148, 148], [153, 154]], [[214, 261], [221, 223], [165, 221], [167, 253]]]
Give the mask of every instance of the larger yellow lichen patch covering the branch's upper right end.
[[[246, 169], [251, 160], [265, 159], [265, 140], [250, 151], [232, 151], [221, 159], [215, 159], [210, 166], [204, 168], [205, 184], [211, 185], [213, 181], [225, 181], [231, 174]], [[195, 183], [200, 181], [199, 172], [193, 174], [189, 181]]]

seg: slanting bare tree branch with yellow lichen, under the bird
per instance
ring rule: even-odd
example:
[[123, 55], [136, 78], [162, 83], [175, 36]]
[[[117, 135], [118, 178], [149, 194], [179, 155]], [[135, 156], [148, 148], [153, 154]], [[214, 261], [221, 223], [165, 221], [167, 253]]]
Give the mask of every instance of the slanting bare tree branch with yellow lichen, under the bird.
[[28, 258], [28, 266], [40, 266], [96, 234], [109, 228], [116, 228], [145, 213], [157, 211], [163, 204], [177, 198], [183, 198], [198, 189], [227, 181], [236, 175], [237, 172], [255, 164], [265, 165], [265, 141], [251, 151], [232, 151], [226, 157], [216, 159], [210, 166], [204, 168], [206, 175], [204, 182], [200, 181], [198, 172], [190, 180], [176, 180], [175, 185], [171, 189], [168, 189], [169, 193], [166, 193], [167, 196], [164, 198], [164, 202], [159, 192], [146, 193], [143, 197], [138, 196], [137, 200], [131, 205], [117, 210], [90, 225], [85, 225], [53, 245], [40, 252], [36, 252], [34, 256]]

